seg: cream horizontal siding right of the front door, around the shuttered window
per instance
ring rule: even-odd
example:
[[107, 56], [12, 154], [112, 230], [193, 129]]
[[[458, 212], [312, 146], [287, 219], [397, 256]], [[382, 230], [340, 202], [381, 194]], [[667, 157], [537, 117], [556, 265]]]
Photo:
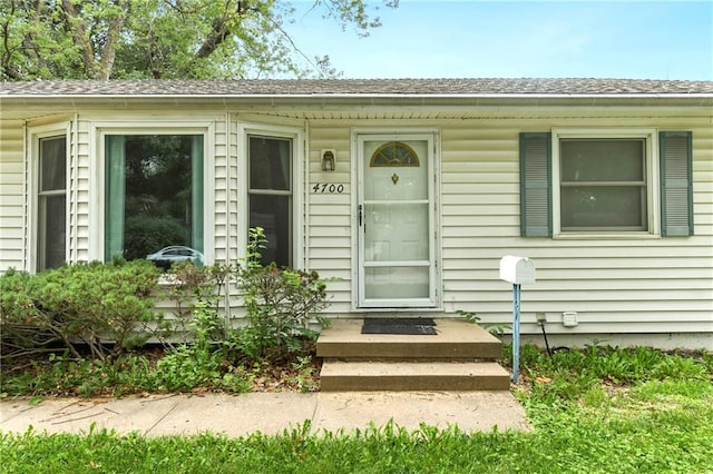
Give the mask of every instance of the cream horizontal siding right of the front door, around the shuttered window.
[[[615, 121], [621, 127], [641, 124]], [[537, 283], [522, 290], [526, 323], [534, 322], [538, 312], [557, 322], [563, 312], [576, 310], [580, 325], [564, 330], [626, 333], [661, 324], [672, 332], [713, 329], [711, 206], [696, 205], [696, 236], [685, 240], [519, 238], [518, 132], [558, 122], [543, 120], [538, 127], [504, 120], [495, 126], [487, 120], [463, 124], [460, 132], [443, 126], [443, 287], [447, 300], [452, 302], [447, 309], [472, 310], [485, 322], [507, 322], [497, 312], [508, 308], [509, 288], [498, 279], [497, 269], [502, 255], [515, 254], [533, 258], [537, 266]], [[587, 119], [567, 122], [582, 126]], [[680, 120], [658, 124], [661, 129], [681, 127]], [[700, 189], [710, 189], [711, 174], [695, 168], [710, 168], [713, 134], [705, 119], [697, 120], [693, 130], [694, 180]], [[465, 140], [466, 135], [470, 141]], [[710, 191], [705, 195], [710, 203]], [[700, 226], [703, 221], [705, 229]]]

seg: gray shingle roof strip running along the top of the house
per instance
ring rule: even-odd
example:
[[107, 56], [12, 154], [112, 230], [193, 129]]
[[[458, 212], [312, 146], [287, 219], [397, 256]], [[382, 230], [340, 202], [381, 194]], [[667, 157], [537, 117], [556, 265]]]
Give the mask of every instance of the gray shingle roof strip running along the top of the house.
[[713, 81], [647, 79], [47, 80], [0, 82], [0, 97], [711, 96]]

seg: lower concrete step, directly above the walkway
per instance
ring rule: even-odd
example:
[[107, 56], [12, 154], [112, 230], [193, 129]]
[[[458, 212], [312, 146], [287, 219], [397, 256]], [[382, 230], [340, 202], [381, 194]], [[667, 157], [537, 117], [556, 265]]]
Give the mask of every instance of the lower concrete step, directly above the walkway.
[[325, 361], [322, 392], [508, 391], [510, 375], [497, 363]]

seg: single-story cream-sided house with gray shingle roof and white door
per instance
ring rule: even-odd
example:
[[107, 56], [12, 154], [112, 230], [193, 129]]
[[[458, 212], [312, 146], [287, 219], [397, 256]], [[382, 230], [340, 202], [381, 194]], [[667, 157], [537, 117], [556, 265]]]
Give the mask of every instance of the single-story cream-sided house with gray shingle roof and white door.
[[524, 338], [713, 348], [713, 81], [4, 82], [0, 116], [0, 270], [261, 226], [331, 317], [507, 324], [517, 255]]

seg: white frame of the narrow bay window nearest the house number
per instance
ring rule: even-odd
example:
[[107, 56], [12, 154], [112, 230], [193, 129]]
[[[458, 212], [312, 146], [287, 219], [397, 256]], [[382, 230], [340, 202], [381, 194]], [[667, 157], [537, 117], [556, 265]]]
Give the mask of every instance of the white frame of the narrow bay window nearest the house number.
[[293, 268], [304, 268], [304, 247], [306, 245], [306, 236], [301, 230], [304, 228], [304, 211], [306, 206], [306, 194], [304, 192], [304, 182], [307, 182], [305, 160], [305, 141], [304, 130], [300, 127], [240, 122], [237, 127], [237, 186], [238, 199], [243, 203], [240, 206], [237, 219], [237, 257], [244, 258], [247, 250], [247, 228], [250, 225], [250, 137], [265, 137], [275, 139], [292, 140], [292, 161], [291, 161], [291, 187], [292, 187], [292, 205], [291, 205], [291, 263]]

